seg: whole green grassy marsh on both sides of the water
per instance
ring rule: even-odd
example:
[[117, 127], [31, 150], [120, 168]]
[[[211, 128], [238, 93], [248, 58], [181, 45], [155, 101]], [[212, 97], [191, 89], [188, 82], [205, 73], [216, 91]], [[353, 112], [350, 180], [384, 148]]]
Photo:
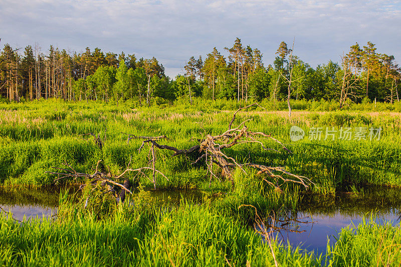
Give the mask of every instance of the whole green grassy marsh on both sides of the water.
[[[225, 132], [234, 112], [244, 105], [200, 99], [194, 99], [193, 105], [175, 102], [150, 107], [129, 101], [118, 106], [59, 100], [0, 104], [0, 186], [29, 191], [88, 182], [47, 173], [55, 171], [52, 167], [66, 168], [65, 163], [78, 172], [93, 173], [101, 160], [99, 169], [114, 176], [129, 163], [133, 169], [148, 166], [149, 145], [139, 152], [142, 140], [127, 142], [127, 134], [165, 135], [159, 144], [188, 149], [197, 144], [196, 139]], [[170, 150], [156, 149], [155, 168], [168, 179], [157, 175], [156, 190], [196, 190], [202, 199], [188, 198], [177, 204], [152, 197], [151, 171], [126, 173], [124, 178], [130, 180], [135, 194], [124, 204], [117, 204], [102, 190], [87, 198], [92, 192], [87, 183], [78, 198], [60, 194], [55, 217], [17, 222], [2, 212], [0, 264], [270, 266], [275, 264], [274, 255], [280, 266], [399, 265], [400, 228], [389, 223], [379, 225], [367, 218], [359, 226], [344, 228], [335, 244], [328, 243], [325, 254], [277, 240], [269, 245], [253, 229], [273, 214], [280, 217], [296, 211], [305, 194], [327, 200], [339, 192], [358, 195], [364, 193], [360, 188], [383, 186], [394, 187], [392, 196], [397, 198], [401, 187], [399, 103], [351, 104], [337, 110], [331, 102], [294, 101], [291, 118], [286, 103], [260, 105], [238, 112], [233, 126], [249, 120], [248, 129], [271, 134], [291, 152], [261, 139], [271, 150], [243, 143], [225, 153], [240, 163], [285, 167], [308, 177], [312, 181], [308, 188], [279, 182], [277, 190], [262, 179], [275, 182], [272, 177], [251, 168], [244, 168], [246, 173], [237, 169], [231, 180], [215, 168], [216, 177], [211, 179], [205, 162], [191, 164], [199, 155], [172, 156]], [[294, 125], [305, 132], [303, 139], [291, 140]], [[340, 138], [345, 129], [352, 135]], [[332, 135], [326, 136], [328, 130]], [[316, 131], [321, 131], [320, 136]], [[356, 132], [363, 132], [363, 137]], [[90, 134], [99, 137], [102, 145]], [[88, 201], [89, 208], [84, 208]]]

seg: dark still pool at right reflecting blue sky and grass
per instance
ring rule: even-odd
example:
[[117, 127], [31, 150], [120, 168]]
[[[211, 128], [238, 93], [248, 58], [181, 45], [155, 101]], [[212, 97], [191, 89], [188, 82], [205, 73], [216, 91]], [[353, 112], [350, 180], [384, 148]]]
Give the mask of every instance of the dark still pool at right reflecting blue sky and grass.
[[342, 228], [356, 227], [364, 218], [366, 222], [372, 217], [376, 223], [400, 223], [400, 189], [365, 187], [359, 191], [333, 197], [304, 195], [297, 212], [275, 223], [282, 229], [274, 235], [284, 243], [325, 253], [328, 240], [333, 244]]

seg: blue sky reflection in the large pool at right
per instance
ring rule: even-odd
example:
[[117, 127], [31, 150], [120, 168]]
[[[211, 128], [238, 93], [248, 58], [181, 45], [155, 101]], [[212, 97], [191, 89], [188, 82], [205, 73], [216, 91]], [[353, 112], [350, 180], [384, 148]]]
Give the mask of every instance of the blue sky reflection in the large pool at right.
[[[391, 221], [392, 225], [399, 223], [399, 212], [394, 210], [394, 212], [389, 211], [388, 213], [381, 213], [377, 215], [375, 222], [383, 223], [383, 220]], [[313, 219], [311, 217], [313, 216]], [[297, 223], [299, 227], [290, 227], [290, 229], [296, 229], [297, 231], [304, 232], [290, 232], [286, 230], [281, 230], [280, 232], [274, 233], [277, 235], [277, 239], [283, 241], [283, 243], [288, 242], [292, 246], [298, 246], [302, 249], [308, 251], [315, 250], [318, 253], [325, 253], [327, 247], [327, 239], [330, 239], [330, 243], [335, 242], [337, 233], [341, 231], [342, 228], [347, 226], [354, 227], [357, 226], [366, 218], [369, 221], [370, 214], [360, 214], [356, 216], [347, 216], [340, 214], [340, 211], [335, 212], [330, 215], [321, 214], [310, 214], [309, 212], [303, 212], [298, 214], [298, 220], [308, 223]], [[317, 251], [316, 251], [317, 250]]]

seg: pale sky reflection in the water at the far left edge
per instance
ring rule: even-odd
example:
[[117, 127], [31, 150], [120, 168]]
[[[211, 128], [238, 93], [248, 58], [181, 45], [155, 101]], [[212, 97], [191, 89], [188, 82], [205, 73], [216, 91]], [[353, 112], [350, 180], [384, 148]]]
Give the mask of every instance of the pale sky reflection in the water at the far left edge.
[[57, 207], [46, 207], [43, 205], [5, 205], [0, 206], [7, 212], [13, 213], [13, 217], [18, 220], [22, 220], [24, 216], [26, 219], [29, 218], [42, 218], [43, 216], [49, 217], [57, 213]]

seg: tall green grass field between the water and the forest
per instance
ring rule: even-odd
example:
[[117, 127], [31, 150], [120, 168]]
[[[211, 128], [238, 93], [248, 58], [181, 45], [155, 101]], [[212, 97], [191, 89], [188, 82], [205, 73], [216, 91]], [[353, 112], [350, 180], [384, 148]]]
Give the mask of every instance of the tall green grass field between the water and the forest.
[[[64, 103], [57, 100], [1, 104], [0, 183], [52, 184], [55, 177], [45, 172], [51, 166], [62, 167], [65, 161], [82, 172], [90, 172], [99, 159], [114, 174], [125, 169], [131, 156], [133, 167], [144, 166], [148, 162], [147, 151], [143, 149], [141, 153], [137, 152], [141, 141], [130, 140], [127, 144], [126, 135], [121, 132], [138, 136], [166, 135], [169, 140], [163, 143], [188, 148], [196, 143], [190, 141], [191, 138], [202, 138], [205, 134], [219, 134], [227, 130], [233, 114], [227, 109], [235, 110], [239, 107], [238, 103], [230, 101], [202, 103], [205, 105], [176, 103], [163, 108], [132, 107], [129, 102], [117, 107], [105, 103]], [[265, 106], [268, 107], [268, 104], [265, 103]], [[294, 173], [312, 178], [316, 186], [311, 190], [320, 194], [334, 194], [338, 188], [346, 187], [350, 183], [401, 185], [399, 113], [356, 109], [330, 112], [294, 111], [289, 120], [286, 112], [264, 111], [252, 107], [249, 111], [238, 113], [234, 124], [246, 119], [252, 119], [247, 122], [248, 128], [272, 134], [293, 153], [264, 151], [256, 144], [238, 145], [226, 151], [238, 161], [287, 166]], [[289, 129], [292, 125], [302, 127], [306, 133], [311, 127], [334, 127], [339, 130], [340, 127], [363, 126], [381, 127], [383, 130], [378, 141], [315, 141], [306, 138], [291, 142]], [[100, 134], [103, 149], [100, 150], [95, 145], [92, 137], [82, 136], [85, 133]], [[280, 150], [280, 146], [274, 142], [266, 140], [264, 143]], [[158, 179], [159, 188], [209, 186], [205, 166], [202, 164], [192, 166], [191, 159], [171, 157], [170, 151], [157, 150], [156, 153], [156, 168], [170, 180], [168, 182]], [[133, 179], [133, 176], [129, 178]], [[146, 178], [140, 178], [138, 182], [150, 185]], [[213, 182], [219, 188], [227, 189], [227, 186]]]

